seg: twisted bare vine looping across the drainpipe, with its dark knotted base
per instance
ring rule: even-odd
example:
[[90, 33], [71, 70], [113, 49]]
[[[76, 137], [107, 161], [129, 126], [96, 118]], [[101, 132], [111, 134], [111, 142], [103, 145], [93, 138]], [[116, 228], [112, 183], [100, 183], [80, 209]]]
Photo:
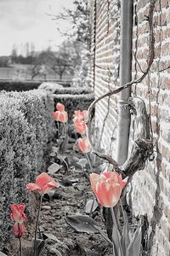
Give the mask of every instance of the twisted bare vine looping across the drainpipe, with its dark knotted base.
[[[107, 93], [105, 93], [102, 96], [99, 96], [94, 102], [91, 103], [91, 105], [88, 108], [87, 118], [85, 120], [86, 126], [87, 126], [87, 137], [88, 141], [90, 143], [90, 146], [92, 148], [92, 152], [99, 156], [99, 158], [103, 160], [107, 160], [115, 169], [116, 172], [122, 173], [122, 177], [128, 177], [127, 183], [131, 180], [133, 177], [133, 174], [137, 172], [138, 170], [141, 170], [144, 168], [145, 160], [153, 153], [153, 145], [152, 140], [150, 138], [145, 138], [145, 140], [142, 138], [139, 138], [134, 146], [133, 146], [133, 152], [131, 153], [131, 156], [127, 162], [127, 164], [121, 168], [118, 166], [118, 163], [116, 160], [114, 160], [111, 155], [108, 154], [102, 154], [100, 153], [96, 148], [94, 148], [94, 144], [92, 142], [91, 136], [90, 136], [90, 130], [91, 130], [91, 119], [92, 119], [92, 112], [94, 110], [95, 104], [102, 99], [104, 99], [107, 96], [115, 95], [122, 90], [125, 90], [127, 88], [130, 88], [133, 84], [139, 84], [144, 80], [146, 75], [150, 71], [150, 67], [154, 61], [155, 57], [155, 36], [154, 36], [154, 30], [153, 30], [153, 14], [155, 9], [156, 0], [152, 0], [150, 3], [150, 9], [149, 9], [149, 15], [145, 15], [145, 20], [149, 22], [149, 57], [147, 61], [147, 67], [145, 71], [143, 71], [143, 74], [139, 77], [139, 79], [133, 79], [127, 84], [123, 84], [121, 87], [119, 87], [116, 90], [110, 90]], [[145, 121], [146, 121], [146, 129], [147, 133], [150, 133], [150, 120], [148, 118], [148, 115], [145, 111]], [[133, 168], [132, 168], [133, 167]]]

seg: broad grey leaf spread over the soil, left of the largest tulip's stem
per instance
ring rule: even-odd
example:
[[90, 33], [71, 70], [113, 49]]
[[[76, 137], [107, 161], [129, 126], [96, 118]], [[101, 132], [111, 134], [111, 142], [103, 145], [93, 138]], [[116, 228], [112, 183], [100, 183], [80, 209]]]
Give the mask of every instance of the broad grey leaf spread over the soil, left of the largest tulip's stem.
[[85, 233], [99, 233], [99, 230], [95, 226], [98, 226], [97, 222], [93, 218], [89, 218], [85, 215], [71, 215], [67, 216], [66, 222], [77, 232]]

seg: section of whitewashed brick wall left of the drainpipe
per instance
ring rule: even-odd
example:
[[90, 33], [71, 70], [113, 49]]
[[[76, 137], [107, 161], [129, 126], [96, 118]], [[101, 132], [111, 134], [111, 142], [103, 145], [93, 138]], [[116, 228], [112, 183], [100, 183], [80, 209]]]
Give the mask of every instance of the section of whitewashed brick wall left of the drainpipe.
[[[116, 88], [119, 83], [120, 59], [120, 1], [91, 1], [91, 83], [95, 97]], [[94, 65], [95, 63], [95, 65]], [[99, 141], [96, 147], [115, 152], [117, 96], [100, 101], [95, 108], [96, 131]], [[105, 139], [109, 142], [105, 144]]]

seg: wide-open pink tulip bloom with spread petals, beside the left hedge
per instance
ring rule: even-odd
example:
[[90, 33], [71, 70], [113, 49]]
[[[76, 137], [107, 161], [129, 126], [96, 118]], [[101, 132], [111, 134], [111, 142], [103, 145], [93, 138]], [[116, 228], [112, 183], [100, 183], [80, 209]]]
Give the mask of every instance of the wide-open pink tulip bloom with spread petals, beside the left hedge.
[[59, 183], [54, 181], [53, 177], [50, 177], [48, 173], [42, 172], [36, 178], [36, 183], [28, 183], [26, 188], [30, 191], [37, 191], [39, 194], [44, 195], [49, 190], [59, 188]]

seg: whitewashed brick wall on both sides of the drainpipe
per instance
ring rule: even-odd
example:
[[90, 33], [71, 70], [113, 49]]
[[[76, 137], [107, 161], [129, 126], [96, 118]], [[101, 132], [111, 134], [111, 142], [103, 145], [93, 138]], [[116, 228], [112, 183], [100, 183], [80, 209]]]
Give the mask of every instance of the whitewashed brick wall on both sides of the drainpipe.
[[[95, 8], [94, 3], [91, 1], [90, 75], [95, 96], [99, 97], [119, 85], [120, 1], [97, 0]], [[138, 64], [133, 58], [133, 79], [138, 78], [141, 69], [147, 65], [149, 25], [144, 15], [148, 15], [149, 7], [149, 0], [133, 1], [133, 54], [139, 61]], [[162, 70], [170, 66], [169, 17], [170, 1], [157, 0], [154, 12], [155, 60], [143, 82], [132, 88], [132, 96], [141, 98], [150, 114], [155, 159], [148, 161], [144, 170], [134, 175], [128, 201], [132, 202], [134, 215], [147, 214], [150, 223], [147, 247], [149, 255], [154, 256], [170, 255], [170, 69]], [[111, 96], [99, 102], [95, 112], [99, 137], [103, 133], [101, 146], [109, 151], [112, 145], [113, 156], [116, 153], [117, 99], [118, 96]], [[132, 125], [130, 144], [136, 136]]]

